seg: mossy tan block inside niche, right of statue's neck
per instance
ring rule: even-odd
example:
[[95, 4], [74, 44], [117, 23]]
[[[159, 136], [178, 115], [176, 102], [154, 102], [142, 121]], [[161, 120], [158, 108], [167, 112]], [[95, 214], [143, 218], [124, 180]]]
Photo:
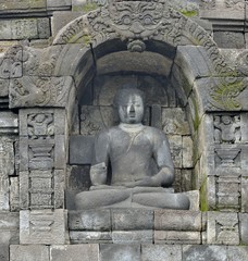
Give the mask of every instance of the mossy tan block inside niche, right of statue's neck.
[[162, 108], [162, 128], [166, 135], [189, 135], [186, 112], [182, 108]]

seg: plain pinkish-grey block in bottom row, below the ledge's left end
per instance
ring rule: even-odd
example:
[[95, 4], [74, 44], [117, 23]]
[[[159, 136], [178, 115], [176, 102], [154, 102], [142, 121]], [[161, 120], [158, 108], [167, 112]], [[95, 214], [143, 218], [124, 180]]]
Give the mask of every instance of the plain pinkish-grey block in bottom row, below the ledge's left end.
[[64, 245], [50, 247], [50, 260], [98, 261], [99, 245]]

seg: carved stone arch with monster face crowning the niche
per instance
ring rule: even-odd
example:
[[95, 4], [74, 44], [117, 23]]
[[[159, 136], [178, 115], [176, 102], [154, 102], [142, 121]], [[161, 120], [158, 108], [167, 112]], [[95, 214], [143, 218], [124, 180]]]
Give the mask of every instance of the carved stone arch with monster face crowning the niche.
[[60, 30], [53, 45], [83, 44], [92, 48], [110, 39], [121, 39], [131, 51], [144, 51], [145, 41], [157, 40], [173, 47], [202, 46], [216, 74], [232, 70], [211, 36], [196, 22], [168, 5], [166, 1], [108, 1], [75, 18]]

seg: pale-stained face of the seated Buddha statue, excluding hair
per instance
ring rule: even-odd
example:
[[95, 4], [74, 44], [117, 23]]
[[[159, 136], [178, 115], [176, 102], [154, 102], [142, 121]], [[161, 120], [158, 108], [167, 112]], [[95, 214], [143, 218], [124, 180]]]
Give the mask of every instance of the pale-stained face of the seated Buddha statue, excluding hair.
[[141, 123], [144, 116], [144, 101], [138, 95], [129, 95], [119, 104], [119, 116], [122, 123]]

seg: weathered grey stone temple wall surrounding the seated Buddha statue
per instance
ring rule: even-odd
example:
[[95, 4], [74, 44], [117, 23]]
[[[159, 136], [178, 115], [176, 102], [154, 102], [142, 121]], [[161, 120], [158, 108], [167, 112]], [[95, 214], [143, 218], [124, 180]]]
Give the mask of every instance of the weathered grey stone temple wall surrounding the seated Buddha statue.
[[[248, 260], [248, 2], [0, 0], [0, 261]], [[126, 82], [189, 210], [75, 210]]]

